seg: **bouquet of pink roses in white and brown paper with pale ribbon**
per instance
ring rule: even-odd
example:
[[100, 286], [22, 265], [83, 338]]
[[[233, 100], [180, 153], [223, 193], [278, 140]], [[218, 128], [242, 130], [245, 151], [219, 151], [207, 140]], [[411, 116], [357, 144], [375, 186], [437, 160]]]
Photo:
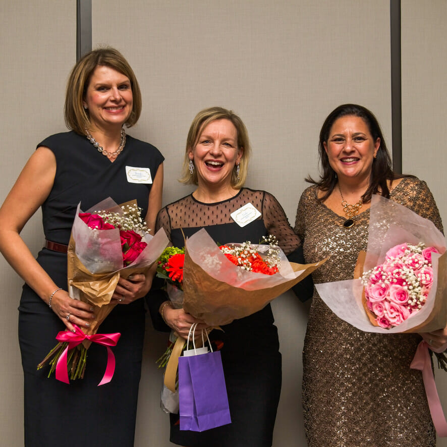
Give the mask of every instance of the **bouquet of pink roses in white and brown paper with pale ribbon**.
[[[371, 200], [368, 246], [360, 252], [353, 280], [317, 284], [320, 298], [339, 318], [365, 332], [432, 332], [447, 325], [447, 252], [433, 222], [384, 197]], [[445, 354], [437, 352], [445, 369]], [[422, 341], [410, 365], [422, 371], [430, 414], [447, 436]]]

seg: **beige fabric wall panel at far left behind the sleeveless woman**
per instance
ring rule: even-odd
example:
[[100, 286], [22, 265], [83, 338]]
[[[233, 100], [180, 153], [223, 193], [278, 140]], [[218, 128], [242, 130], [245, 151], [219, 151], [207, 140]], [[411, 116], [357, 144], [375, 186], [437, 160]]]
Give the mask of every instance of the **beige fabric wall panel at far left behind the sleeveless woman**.
[[[0, 23], [3, 203], [36, 144], [47, 135], [66, 130], [63, 106], [67, 76], [76, 62], [76, 2], [3, 1]], [[43, 246], [41, 227], [38, 211], [22, 231], [35, 255]], [[0, 284], [0, 444], [23, 445], [23, 378], [17, 342], [17, 307], [23, 282], [2, 256]]]

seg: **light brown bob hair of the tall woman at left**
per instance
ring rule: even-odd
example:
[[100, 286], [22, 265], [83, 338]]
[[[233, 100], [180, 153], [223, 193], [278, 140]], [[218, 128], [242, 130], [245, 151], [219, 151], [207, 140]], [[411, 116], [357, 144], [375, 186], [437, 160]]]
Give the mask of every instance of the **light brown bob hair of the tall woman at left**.
[[127, 127], [132, 127], [141, 114], [141, 92], [137, 78], [124, 56], [115, 48], [98, 48], [85, 54], [73, 67], [67, 82], [64, 115], [65, 123], [80, 135], [85, 135], [85, 129], [91, 127], [88, 110], [84, 109], [82, 101], [85, 99], [90, 78], [96, 67], [110, 67], [127, 76], [130, 81], [133, 96], [133, 107]]

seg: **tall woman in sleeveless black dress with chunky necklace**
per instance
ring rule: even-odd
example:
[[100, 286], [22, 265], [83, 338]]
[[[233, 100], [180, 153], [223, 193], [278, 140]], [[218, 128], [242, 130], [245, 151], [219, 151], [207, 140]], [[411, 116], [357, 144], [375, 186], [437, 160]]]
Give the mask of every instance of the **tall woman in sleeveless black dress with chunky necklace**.
[[[67, 293], [67, 244], [78, 203], [86, 210], [108, 196], [117, 203], [136, 199], [148, 228], [155, 228], [163, 156], [124, 131], [140, 113], [137, 79], [123, 55], [113, 48], [87, 53], [67, 85], [65, 118], [72, 130], [37, 145], [0, 210], [0, 249], [26, 283], [19, 307], [26, 446], [134, 445], [145, 329], [139, 298], [151, 287], [150, 274], [120, 279], [113, 295], [120, 305], [101, 324], [102, 333], [121, 333], [110, 383], [98, 386], [106, 352], [96, 344], [84, 378], [69, 385], [54, 374], [47, 378], [48, 367], [37, 371], [37, 364], [59, 331], [89, 326], [95, 318], [93, 308]], [[153, 182], [130, 183], [127, 166], [150, 172]], [[36, 260], [19, 233], [39, 206], [46, 241]]]

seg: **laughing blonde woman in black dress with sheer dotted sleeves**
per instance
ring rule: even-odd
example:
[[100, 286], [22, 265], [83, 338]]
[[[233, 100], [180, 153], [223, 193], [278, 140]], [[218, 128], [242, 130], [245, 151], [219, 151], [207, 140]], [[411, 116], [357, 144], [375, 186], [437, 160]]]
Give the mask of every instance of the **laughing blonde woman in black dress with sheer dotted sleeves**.
[[[243, 187], [250, 144], [247, 130], [232, 111], [221, 107], [202, 110], [189, 130], [184, 161], [184, 183], [197, 185], [190, 195], [160, 210], [156, 230], [164, 228], [171, 243], [184, 246], [185, 236], [205, 228], [214, 241], [258, 242], [268, 234], [295, 262], [303, 262], [299, 238], [277, 200], [265, 191]], [[241, 227], [231, 213], [251, 203], [259, 217]], [[310, 287], [312, 290], [312, 286]], [[206, 327], [166, 296], [153, 297], [153, 321], [160, 330], [174, 329], [188, 337], [192, 323]], [[160, 312], [163, 310], [163, 323]], [[213, 330], [211, 340], [221, 349], [232, 423], [203, 432], [180, 431], [179, 415], [171, 414], [171, 441], [184, 446], [269, 447], [281, 391], [281, 354], [270, 305], [246, 318]]]

